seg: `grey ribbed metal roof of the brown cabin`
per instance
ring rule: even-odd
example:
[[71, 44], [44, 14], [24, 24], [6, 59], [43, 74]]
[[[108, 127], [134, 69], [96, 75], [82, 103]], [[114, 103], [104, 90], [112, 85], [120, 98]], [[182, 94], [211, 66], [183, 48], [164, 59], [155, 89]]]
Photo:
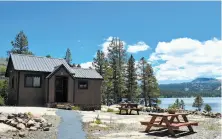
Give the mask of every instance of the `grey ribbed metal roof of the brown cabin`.
[[76, 78], [103, 79], [94, 69], [72, 68], [65, 59], [38, 57], [33, 55], [11, 54], [15, 70], [53, 72], [56, 67], [64, 65]]

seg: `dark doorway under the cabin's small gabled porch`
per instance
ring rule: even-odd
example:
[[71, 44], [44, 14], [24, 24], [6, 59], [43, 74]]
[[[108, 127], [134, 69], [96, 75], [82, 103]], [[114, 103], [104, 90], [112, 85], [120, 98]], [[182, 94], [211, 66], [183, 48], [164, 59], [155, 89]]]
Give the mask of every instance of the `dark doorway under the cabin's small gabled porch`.
[[55, 80], [55, 101], [67, 102], [68, 98], [68, 77], [56, 76]]

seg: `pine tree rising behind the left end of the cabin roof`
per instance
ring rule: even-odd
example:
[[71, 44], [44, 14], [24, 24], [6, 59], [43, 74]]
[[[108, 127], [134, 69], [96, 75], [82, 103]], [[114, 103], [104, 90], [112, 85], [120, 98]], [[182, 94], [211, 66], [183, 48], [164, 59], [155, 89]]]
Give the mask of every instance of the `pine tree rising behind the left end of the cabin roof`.
[[16, 35], [15, 40], [11, 41], [11, 44], [12, 44], [13, 48], [7, 52], [8, 55], [10, 53], [33, 55], [33, 53], [31, 51], [29, 51], [28, 38], [23, 31], [20, 31]]

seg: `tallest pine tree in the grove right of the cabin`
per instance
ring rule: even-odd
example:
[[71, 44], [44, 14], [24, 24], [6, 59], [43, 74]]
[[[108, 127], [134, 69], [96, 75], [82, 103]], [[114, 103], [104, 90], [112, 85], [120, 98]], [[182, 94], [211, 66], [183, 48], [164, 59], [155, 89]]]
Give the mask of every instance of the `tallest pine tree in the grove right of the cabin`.
[[121, 101], [125, 87], [125, 67], [126, 51], [123, 47], [123, 42], [118, 38], [113, 38], [108, 47], [108, 59], [111, 68], [113, 69], [113, 91], [115, 103]]

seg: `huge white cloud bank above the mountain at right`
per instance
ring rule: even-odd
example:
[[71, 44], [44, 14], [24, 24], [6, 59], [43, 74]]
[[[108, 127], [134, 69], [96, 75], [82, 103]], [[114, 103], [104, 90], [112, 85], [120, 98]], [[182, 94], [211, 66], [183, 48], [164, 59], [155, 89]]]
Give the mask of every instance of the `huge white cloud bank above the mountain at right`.
[[159, 81], [221, 78], [221, 52], [222, 41], [215, 38], [205, 42], [178, 38], [170, 42], [159, 42], [149, 61], [161, 63], [154, 66]]

